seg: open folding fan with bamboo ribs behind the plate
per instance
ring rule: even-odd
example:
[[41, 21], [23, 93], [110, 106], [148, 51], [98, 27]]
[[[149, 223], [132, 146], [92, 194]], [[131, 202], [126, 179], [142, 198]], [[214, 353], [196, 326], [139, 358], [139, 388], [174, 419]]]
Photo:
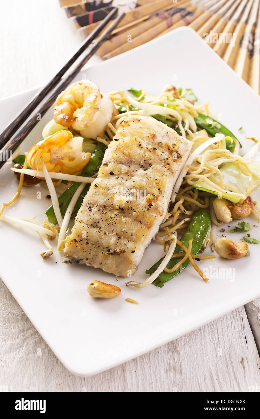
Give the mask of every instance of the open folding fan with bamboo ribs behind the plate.
[[260, 94], [260, 0], [59, 0], [76, 28], [90, 34], [113, 7], [125, 12], [97, 51], [115, 57], [175, 28], [193, 28]]

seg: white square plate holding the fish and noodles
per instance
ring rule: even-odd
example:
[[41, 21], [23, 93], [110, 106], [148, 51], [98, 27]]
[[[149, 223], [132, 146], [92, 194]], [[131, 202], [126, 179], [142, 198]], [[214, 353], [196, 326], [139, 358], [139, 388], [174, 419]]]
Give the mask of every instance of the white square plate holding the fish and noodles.
[[[260, 99], [252, 89], [189, 28], [179, 28], [142, 47], [112, 58], [82, 73], [108, 93], [130, 86], [160, 93], [165, 84], [193, 88], [200, 101], [210, 102], [215, 114], [246, 145], [244, 134], [259, 136]], [[1, 130], [18, 113], [35, 90], [1, 101]], [[22, 151], [41, 139], [50, 111], [26, 138]], [[240, 126], [243, 132], [238, 132]], [[252, 143], [251, 143], [252, 144]], [[10, 166], [0, 171], [1, 202], [17, 190]], [[37, 199], [37, 192], [41, 199]], [[42, 222], [50, 204], [42, 186], [24, 188], [15, 205], [5, 209], [14, 217], [37, 215]], [[255, 220], [251, 224], [257, 225]], [[259, 229], [252, 237], [259, 238]], [[251, 233], [251, 232], [250, 232]], [[203, 282], [192, 267], [160, 289], [151, 285], [139, 290], [126, 288], [102, 270], [61, 263], [53, 254], [46, 262], [37, 233], [19, 231], [0, 223], [0, 274], [29, 319], [63, 364], [77, 375], [92, 375], [108, 369], [222, 316], [260, 294], [259, 246], [250, 245], [251, 256], [228, 261], [216, 258], [201, 261], [230, 271], [228, 278], [213, 274]], [[226, 233], [228, 235], [228, 231]], [[242, 234], [243, 235], [243, 234]], [[237, 240], [241, 234], [236, 233]], [[162, 256], [153, 242], [144, 254], [134, 279], [147, 278], [145, 269]], [[215, 276], [217, 276], [215, 278]], [[224, 276], [224, 275], [222, 275]], [[87, 293], [87, 282], [98, 279], [117, 284], [122, 292], [113, 300], [95, 300]], [[133, 298], [139, 305], [129, 304]]]

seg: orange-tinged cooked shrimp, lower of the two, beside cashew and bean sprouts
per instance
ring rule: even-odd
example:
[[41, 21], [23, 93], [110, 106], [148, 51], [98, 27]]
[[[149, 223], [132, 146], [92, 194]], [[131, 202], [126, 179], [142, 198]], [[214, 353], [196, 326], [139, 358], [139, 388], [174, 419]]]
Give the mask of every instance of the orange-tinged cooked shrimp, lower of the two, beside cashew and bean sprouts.
[[70, 131], [58, 131], [35, 144], [28, 153], [28, 164], [42, 171], [42, 158], [47, 171], [74, 175], [89, 162], [91, 153], [82, 152], [82, 137], [73, 137]]

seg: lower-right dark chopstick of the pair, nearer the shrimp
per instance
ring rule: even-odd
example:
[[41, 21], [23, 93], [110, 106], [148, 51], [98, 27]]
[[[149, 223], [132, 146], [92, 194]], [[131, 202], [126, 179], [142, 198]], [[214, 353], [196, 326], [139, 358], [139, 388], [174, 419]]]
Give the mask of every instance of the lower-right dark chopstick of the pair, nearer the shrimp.
[[115, 20], [105, 29], [99, 39], [92, 45], [89, 49], [87, 55], [79, 62], [79, 64], [66, 76], [66, 78], [58, 85], [55, 91], [51, 94], [49, 98], [39, 106], [32, 117], [26, 122], [26, 124], [18, 131], [18, 133], [5, 145], [5, 147], [0, 151], [0, 168], [5, 164], [6, 160], [11, 157], [12, 153], [19, 147], [23, 142], [24, 138], [32, 131], [34, 126], [39, 122], [39, 115], [42, 116], [50, 108], [50, 106], [55, 102], [57, 96], [66, 88], [71, 81], [74, 79], [76, 74], [81, 70], [81, 68], [86, 64], [90, 57], [97, 51], [102, 42], [104, 42], [108, 35], [116, 28], [118, 23], [125, 16], [125, 13], [118, 15]]

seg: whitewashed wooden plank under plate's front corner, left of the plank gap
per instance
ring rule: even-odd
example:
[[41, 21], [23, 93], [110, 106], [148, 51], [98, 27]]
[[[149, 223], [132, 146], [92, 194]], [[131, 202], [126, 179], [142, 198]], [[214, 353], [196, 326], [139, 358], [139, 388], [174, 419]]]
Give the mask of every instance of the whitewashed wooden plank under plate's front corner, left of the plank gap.
[[123, 365], [81, 378], [63, 367], [3, 282], [0, 295], [0, 385], [12, 391], [249, 391], [260, 383], [244, 307]]

